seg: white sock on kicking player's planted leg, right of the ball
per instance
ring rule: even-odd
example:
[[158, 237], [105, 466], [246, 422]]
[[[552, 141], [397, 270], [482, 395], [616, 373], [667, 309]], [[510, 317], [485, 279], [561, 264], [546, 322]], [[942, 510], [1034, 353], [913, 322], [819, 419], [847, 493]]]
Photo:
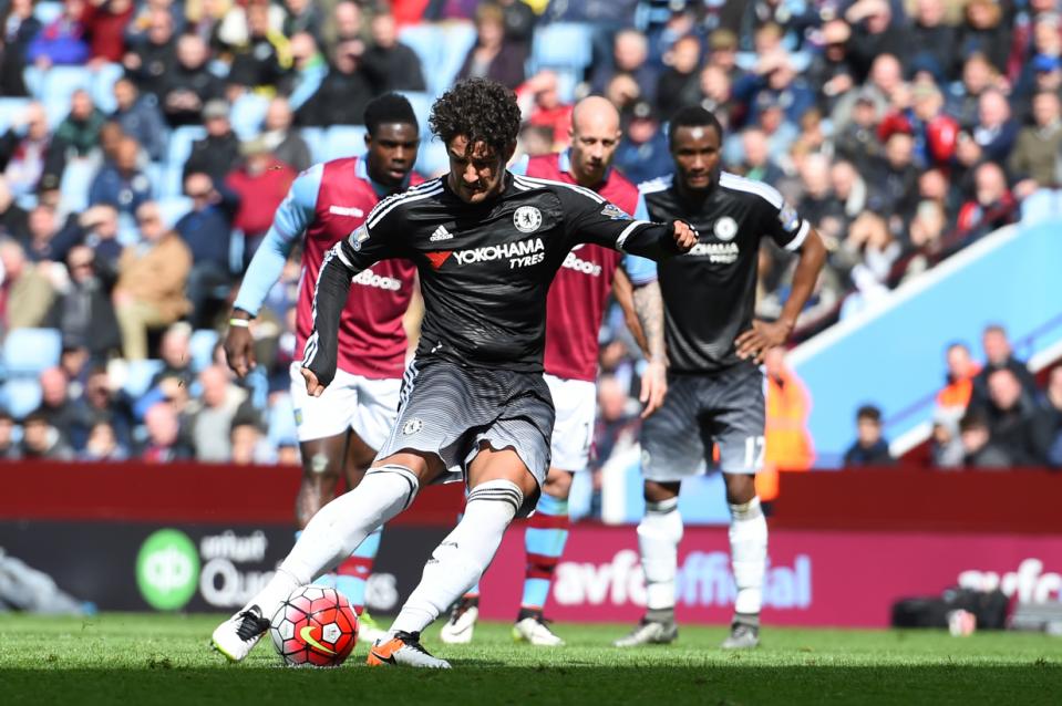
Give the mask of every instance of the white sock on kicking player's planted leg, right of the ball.
[[480, 580], [502, 543], [502, 534], [524, 503], [509, 480], [488, 480], [468, 494], [464, 516], [424, 565], [420, 584], [391, 625], [419, 633]]

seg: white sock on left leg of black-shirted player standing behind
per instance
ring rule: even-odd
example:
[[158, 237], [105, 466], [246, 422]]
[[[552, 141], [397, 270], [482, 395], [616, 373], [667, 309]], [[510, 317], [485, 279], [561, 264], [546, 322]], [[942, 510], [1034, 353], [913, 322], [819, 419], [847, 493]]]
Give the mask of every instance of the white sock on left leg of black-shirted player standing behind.
[[674, 609], [674, 574], [682, 541], [679, 499], [646, 502], [646, 515], [638, 525], [638, 548], [646, 572], [646, 608], [650, 611]]

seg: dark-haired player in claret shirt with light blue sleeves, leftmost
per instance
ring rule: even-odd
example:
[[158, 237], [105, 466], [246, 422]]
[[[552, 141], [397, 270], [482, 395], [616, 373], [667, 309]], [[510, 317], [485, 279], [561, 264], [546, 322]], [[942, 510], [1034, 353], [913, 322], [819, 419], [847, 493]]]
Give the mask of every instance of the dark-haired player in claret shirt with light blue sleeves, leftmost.
[[[365, 126], [364, 156], [318, 164], [299, 175], [247, 268], [225, 339], [228, 364], [240, 377], [255, 364], [249, 321], [296, 243], [302, 243], [296, 309], [297, 350], [302, 351], [313, 328], [313, 284], [324, 253], [361, 226], [381, 198], [423, 180], [412, 172], [420, 133], [409, 101], [394, 93], [373, 100], [365, 107]], [[307, 395], [301, 366], [291, 365], [302, 451], [302, 484], [296, 499], [300, 529], [336, 497], [341, 473], [350, 487], [361, 481], [391, 432], [405, 367], [403, 316], [415, 278], [416, 268], [405, 260], [381, 262], [354, 278], [339, 326], [339, 370], [326, 394]], [[324, 580], [362, 616], [362, 635], [374, 630], [363, 609], [365, 581], [379, 547], [378, 529], [339, 564], [337, 575]]]

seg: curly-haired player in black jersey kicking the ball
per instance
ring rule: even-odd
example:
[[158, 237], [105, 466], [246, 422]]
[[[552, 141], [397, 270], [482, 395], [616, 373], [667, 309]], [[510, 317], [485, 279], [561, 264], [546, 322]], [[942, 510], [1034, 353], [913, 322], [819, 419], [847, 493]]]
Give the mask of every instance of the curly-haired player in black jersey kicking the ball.
[[662, 260], [697, 240], [684, 222], [620, 219], [589, 189], [509, 174], [519, 123], [516, 97], [503, 85], [482, 79], [455, 85], [431, 116], [448, 174], [381, 201], [326, 256], [303, 357], [311, 395], [336, 375], [351, 278], [379, 260], [417, 266], [421, 341], [399, 418], [364, 479], [313, 516], [265, 589], [215, 631], [215, 644], [230, 658], [246, 657], [295, 589], [348, 557], [421, 487], [463, 477], [464, 516], [368, 658], [448, 667], [421, 646], [421, 631], [478, 581], [509, 522], [535, 508], [549, 467], [554, 407], [542, 361], [554, 274], [580, 242]]

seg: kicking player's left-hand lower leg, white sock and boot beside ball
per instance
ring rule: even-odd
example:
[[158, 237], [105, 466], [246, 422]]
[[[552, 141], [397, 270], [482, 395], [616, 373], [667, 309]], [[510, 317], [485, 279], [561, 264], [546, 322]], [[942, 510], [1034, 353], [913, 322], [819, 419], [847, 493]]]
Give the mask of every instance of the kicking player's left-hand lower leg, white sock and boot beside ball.
[[321, 508], [266, 588], [214, 631], [214, 647], [233, 662], [244, 660], [285, 599], [334, 568], [370, 532], [408, 508], [419, 484], [410, 466], [385, 463], [365, 474], [357, 488]]

